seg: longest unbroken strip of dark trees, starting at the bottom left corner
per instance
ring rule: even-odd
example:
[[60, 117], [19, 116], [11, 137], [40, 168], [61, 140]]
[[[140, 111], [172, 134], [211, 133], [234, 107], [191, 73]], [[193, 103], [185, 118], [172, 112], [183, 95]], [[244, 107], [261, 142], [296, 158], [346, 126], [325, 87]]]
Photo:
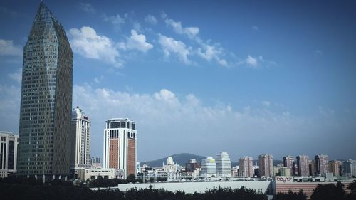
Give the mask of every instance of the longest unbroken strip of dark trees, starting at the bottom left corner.
[[[133, 177], [132, 177], [133, 178]], [[98, 179], [90, 184], [108, 184], [107, 181], [112, 181], [117, 185], [119, 179]], [[120, 180], [122, 181], [122, 180]], [[125, 181], [125, 180], [124, 180]], [[112, 184], [112, 183], [110, 183]], [[211, 189], [204, 194], [186, 194], [184, 191], [166, 191], [164, 189], [131, 189], [126, 191], [125, 195], [122, 191], [113, 189], [100, 189], [92, 191], [88, 187], [73, 186], [71, 181], [53, 180], [46, 184], [36, 179], [26, 179], [21, 177], [6, 177], [0, 179], [0, 194], [1, 200], [266, 200], [267, 196], [258, 194], [251, 189]]]

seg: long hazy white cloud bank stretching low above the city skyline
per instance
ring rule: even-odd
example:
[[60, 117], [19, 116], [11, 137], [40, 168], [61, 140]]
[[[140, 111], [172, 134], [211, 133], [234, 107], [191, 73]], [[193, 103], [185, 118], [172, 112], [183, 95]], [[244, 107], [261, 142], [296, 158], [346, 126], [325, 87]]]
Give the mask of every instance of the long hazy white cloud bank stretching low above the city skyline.
[[[345, 122], [344, 127], [332, 126], [333, 130], [329, 130], [330, 122], [335, 124], [341, 120], [335, 117], [323, 118], [323, 115], [318, 119], [295, 117], [287, 110], [272, 112], [268, 107], [236, 110], [221, 102], [204, 105], [193, 94], [179, 95], [168, 89], [147, 94], [74, 85], [73, 102], [80, 102], [80, 107], [91, 117], [92, 132], [103, 132], [104, 121], [112, 117], [135, 120], [140, 138], [137, 153], [140, 161], [166, 157], [177, 152], [216, 154], [221, 149], [229, 152], [231, 157], [242, 154], [254, 156], [264, 153], [263, 149], [268, 149], [275, 157], [281, 157], [283, 152], [280, 149], [298, 154], [300, 142], [305, 144], [303, 151], [313, 155], [328, 149], [319, 143], [333, 141], [335, 135], [332, 133], [335, 131], [342, 132], [337, 144], [347, 141], [346, 135], [355, 138], [352, 130], [355, 130], [356, 125], [352, 120]], [[295, 135], [299, 137], [295, 138]], [[279, 137], [293, 137], [295, 145], [278, 142], [276, 138]], [[263, 139], [263, 142], [256, 138]], [[93, 134], [92, 140], [95, 141], [95, 144], [92, 143], [92, 154], [100, 155], [103, 148], [102, 136]], [[316, 146], [306, 145], [308, 141], [308, 144], [315, 144], [315, 140], [319, 141]], [[349, 143], [342, 146], [355, 152], [355, 145]], [[251, 144], [256, 144], [256, 147]], [[236, 152], [236, 146], [242, 150]], [[145, 151], [147, 148], [150, 148], [150, 152]]]

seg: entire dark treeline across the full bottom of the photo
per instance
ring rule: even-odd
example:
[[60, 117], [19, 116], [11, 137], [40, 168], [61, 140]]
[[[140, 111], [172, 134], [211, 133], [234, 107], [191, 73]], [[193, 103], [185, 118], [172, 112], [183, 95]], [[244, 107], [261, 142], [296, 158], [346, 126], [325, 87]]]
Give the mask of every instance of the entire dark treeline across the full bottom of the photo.
[[[108, 180], [107, 180], [108, 181]], [[127, 181], [127, 180], [125, 180]], [[133, 180], [131, 180], [133, 181]], [[93, 184], [94, 181], [91, 182]], [[356, 199], [356, 181], [348, 186], [351, 193], [346, 194], [341, 183], [319, 185], [311, 196], [311, 200], [351, 200]], [[267, 196], [253, 189], [210, 189], [204, 193], [187, 194], [184, 191], [167, 191], [164, 189], [99, 189], [92, 191], [87, 186], [74, 186], [71, 181], [53, 180], [45, 184], [34, 178], [5, 177], [0, 179], [1, 200], [267, 200]], [[287, 194], [276, 194], [273, 200], [305, 200], [303, 191]]]

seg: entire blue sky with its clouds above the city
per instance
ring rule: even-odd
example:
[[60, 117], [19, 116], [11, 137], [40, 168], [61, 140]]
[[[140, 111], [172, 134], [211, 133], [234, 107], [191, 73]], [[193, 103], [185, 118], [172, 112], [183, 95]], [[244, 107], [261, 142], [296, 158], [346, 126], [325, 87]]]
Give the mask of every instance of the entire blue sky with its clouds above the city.
[[[0, 1], [0, 130], [19, 132], [23, 46], [40, 1]], [[188, 152], [356, 159], [355, 1], [44, 1], [66, 30], [73, 107], [137, 159]]]

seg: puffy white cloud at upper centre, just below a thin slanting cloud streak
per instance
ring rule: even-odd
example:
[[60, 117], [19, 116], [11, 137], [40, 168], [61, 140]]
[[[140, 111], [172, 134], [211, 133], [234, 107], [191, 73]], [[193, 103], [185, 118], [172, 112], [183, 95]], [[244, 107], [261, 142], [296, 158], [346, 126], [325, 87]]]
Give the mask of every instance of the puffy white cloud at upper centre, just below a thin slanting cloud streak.
[[191, 63], [191, 61], [188, 59], [190, 49], [182, 41], [176, 41], [174, 38], [159, 35], [159, 43], [162, 46], [162, 50], [166, 58], [168, 58], [171, 53], [174, 53], [183, 63], [187, 65]]

